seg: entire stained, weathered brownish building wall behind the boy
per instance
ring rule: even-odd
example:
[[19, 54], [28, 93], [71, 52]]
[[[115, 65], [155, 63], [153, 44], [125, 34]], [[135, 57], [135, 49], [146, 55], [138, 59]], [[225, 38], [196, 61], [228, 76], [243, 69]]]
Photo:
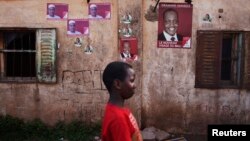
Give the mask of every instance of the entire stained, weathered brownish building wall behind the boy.
[[[162, 0], [162, 2], [183, 0]], [[95, 49], [92, 55], [75, 48], [75, 38], [66, 36], [65, 21], [47, 21], [46, 3], [69, 4], [69, 18], [87, 18], [87, 4], [83, 0], [5, 0], [0, 1], [0, 27], [55, 27], [60, 48], [58, 56], [58, 83], [0, 84], [0, 114], [10, 114], [26, 120], [41, 118], [54, 124], [58, 120], [81, 119], [97, 121], [103, 115], [108, 99], [101, 82], [106, 64], [119, 58], [118, 19], [124, 10], [132, 11], [140, 19], [154, 3], [151, 0], [93, 0], [111, 2], [112, 19], [90, 22], [90, 39]], [[195, 0], [193, 1], [193, 30], [191, 49], [163, 49], [156, 47], [158, 23], [144, 17], [135, 28], [139, 38], [141, 60], [133, 64], [137, 70], [136, 95], [128, 101], [136, 118], [143, 126], [155, 125], [168, 131], [205, 133], [209, 123], [249, 123], [250, 96], [245, 90], [195, 89], [196, 31], [250, 30], [249, 0]], [[222, 19], [218, 9], [223, 8]], [[118, 14], [119, 13], [119, 14]], [[211, 25], [202, 23], [209, 13]], [[140, 22], [143, 23], [142, 27]], [[142, 30], [141, 30], [142, 29]], [[141, 38], [143, 35], [143, 38]], [[87, 39], [84, 38], [84, 41]], [[85, 42], [86, 43], [86, 42]], [[143, 44], [142, 44], [143, 43]], [[143, 45], [143, 47], [142, 47]], [[142, 106], [140, 106], [142, 104]], [[142, 112], [141, 112], [142, 111]], [[141, 115], [142, 114], [142, 115]]]

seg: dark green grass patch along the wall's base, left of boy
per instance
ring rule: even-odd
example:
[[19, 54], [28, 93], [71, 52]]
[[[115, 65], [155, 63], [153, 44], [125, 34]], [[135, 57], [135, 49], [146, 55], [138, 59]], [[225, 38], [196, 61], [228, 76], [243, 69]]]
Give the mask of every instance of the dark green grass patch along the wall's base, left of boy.
[[49, 127], [41, 120], [24, 122], [11, 116], [0, 116], [1, 141], [91, 141], [99, 136], [101, 124], [87, 124], [73, 121], [69, 124], [58, 122]]

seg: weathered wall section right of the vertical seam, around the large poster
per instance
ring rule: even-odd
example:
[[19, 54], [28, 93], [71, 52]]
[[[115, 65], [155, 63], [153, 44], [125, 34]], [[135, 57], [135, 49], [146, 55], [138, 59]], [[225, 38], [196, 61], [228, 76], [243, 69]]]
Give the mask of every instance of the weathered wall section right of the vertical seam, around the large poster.
[[[152, 3], [144, 1], [144, 14]], [[143, 125], [173, 132], [205, 133], [209, 123], [250, 122], [250, 92], [194, 88], [196, 31], [249, 31], [249, 4], [248, 0], [193, 1], [191, 49], [157, 48], [158, 22], [143, 19]], [[221, 19], [220, 8], [224, 10]], [[211, 25], [202, 23], [206, 13], [212, 16]]]

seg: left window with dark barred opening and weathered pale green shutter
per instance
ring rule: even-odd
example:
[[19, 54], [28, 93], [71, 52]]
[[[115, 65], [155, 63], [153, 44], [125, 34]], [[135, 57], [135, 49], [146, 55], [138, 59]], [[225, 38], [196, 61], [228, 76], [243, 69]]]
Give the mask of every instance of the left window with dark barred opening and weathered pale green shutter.
[[56, 82], [55, 29], [0, 29], [0, 82]]

